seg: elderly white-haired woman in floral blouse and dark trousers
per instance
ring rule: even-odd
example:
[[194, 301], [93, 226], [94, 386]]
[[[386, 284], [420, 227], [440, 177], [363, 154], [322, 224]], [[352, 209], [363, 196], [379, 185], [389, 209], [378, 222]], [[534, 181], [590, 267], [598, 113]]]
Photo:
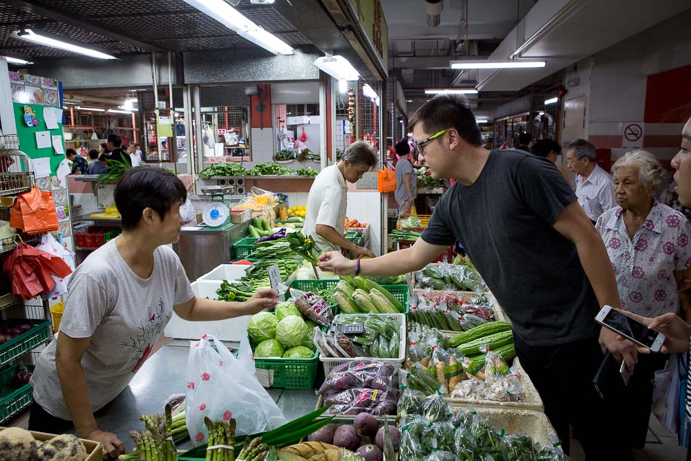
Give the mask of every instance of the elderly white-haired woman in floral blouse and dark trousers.
[[[679, 314], [681, 285], [691, 278], [691, 227], [683, 214], [655, 198], [665, 170], [651, 153], [631, 151], [612, 167], [617, 207], [598, 218], [600, 232], [616, 275], [621, 306], [644, 317]], [[652, 403], [654, 372], [667, 355], [639, 356], [621, 396], [634, 448], [643, 448]]]

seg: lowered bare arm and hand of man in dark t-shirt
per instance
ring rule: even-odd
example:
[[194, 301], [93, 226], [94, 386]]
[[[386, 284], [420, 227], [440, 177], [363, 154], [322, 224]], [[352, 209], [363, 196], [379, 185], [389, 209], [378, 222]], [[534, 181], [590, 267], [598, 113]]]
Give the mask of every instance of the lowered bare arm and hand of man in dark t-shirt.
[[[612, 262], [607, 256], [605, 244], [578, 202], [567, 206], [559, 214], [553, 227], [576, 245], [580, 264], [583, 265], [600, 306], [621, 308]], [[616, 333], [605, 327], [600, 330], [600, 344], [609, 349], [617, 360], [624, 359], [629, 370], [634, 369], [638, 361], [635, 344], [617, 341]]]

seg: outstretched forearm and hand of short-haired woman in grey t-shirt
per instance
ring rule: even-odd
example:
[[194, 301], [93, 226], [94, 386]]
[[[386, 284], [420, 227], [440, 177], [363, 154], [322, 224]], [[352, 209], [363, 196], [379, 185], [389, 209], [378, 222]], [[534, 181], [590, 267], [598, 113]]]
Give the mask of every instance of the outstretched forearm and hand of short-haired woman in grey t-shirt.
[[187, 303], [173, 306], [173, 310], [185, 320], [214, 321], [256, 314], [274, 307], [277, 302], [278, 293], [275, 290], [258, 290], [252, 298], [243, 303], [214, 301], [196, 296]]

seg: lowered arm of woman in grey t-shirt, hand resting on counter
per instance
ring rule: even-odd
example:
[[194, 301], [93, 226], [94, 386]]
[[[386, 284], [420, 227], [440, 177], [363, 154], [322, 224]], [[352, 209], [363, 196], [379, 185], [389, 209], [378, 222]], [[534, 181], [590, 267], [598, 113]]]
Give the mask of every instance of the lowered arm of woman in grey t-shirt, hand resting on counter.
[[65, 404], [72, 415], [79, 437], [101, 442], [104, 452], [111, 458], [117, 458], [124, 453], [124, 444], [115, 434], [100, 431], [91, 413], [91, 400], [82, 368], [82, 356], [90, 341], [91, 337], [73, 338], [59, 332], [55, 348], [55, 367]]

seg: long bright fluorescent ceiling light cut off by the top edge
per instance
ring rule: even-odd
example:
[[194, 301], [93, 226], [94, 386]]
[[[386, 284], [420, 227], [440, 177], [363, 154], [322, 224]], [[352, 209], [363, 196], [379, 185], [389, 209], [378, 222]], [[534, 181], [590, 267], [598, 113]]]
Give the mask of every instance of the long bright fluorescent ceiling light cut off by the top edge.
[[247, 19], [224, 0], [184, 0], [184, 3], [197, 8], [230, 30], [234, 30], [240, 37], [252, 41], [274, 55], [292, 55], [294, 52], [292, 46]]

